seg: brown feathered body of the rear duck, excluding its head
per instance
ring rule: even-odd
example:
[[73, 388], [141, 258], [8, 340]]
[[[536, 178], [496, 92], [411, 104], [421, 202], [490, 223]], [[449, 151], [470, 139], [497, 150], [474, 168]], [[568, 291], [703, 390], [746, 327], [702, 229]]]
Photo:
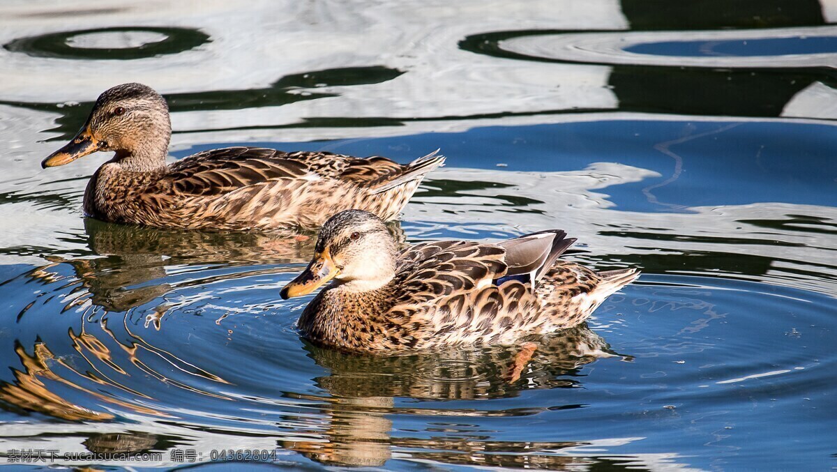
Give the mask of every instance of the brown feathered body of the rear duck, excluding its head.
[[124, 172], [107, 163], [90, 180], [85, 211], [118, 223], [234, 230], [318, 228], [349, 208], [389, 220], [420, 178], [387, 192], [368, 182], [408, 172], [410, 165], [384, 157], [230, 147], [199, 152], [160, 172]]

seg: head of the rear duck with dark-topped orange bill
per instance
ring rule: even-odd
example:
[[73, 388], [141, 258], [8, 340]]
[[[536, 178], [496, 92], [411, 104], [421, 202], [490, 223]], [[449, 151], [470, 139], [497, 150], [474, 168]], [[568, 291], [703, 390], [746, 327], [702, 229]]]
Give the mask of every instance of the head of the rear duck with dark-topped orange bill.
[[171, 137], [168, 105], [160, 94], [147, 85], [116, 85], [99, 95], [81, 131], [41, 166], [63, 166], [95, 151], [116, 151], [114, 160], [129, 170], [151, 170], [165, 165]]

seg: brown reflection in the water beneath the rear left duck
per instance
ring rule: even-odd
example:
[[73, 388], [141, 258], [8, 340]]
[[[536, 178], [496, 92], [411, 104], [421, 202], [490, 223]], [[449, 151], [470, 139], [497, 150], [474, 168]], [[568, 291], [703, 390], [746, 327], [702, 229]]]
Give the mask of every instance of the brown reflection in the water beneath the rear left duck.
[[76, 281], [71, 282], [75, 286], [68, 295], [86, 293], [68, 296], [72, 300], [64, 310], [86, 301], [107, 311], [130, 310], [172, 290], [166, 281], [167, 266], [303, 263], [316, 243], [313, 233], [305, 232], [172, 231], [103, 223], [91, 218], [85, 220], [85, 231], [92, 254], [101, 257], [50, 256], [47, 258], [50, 264], [28, 274], [34, 280], [54, 283], [62, 279], [57, 266], [71, 265]]

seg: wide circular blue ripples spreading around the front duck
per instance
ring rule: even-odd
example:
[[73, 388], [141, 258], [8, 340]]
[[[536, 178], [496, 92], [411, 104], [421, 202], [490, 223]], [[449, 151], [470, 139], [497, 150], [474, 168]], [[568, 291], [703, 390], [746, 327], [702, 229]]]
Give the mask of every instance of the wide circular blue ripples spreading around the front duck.
[[[593, 329], [547, 336], [531, 352], [463, 346], [396, 357], [343, 354], [300, 340], [296, 305], [277, 301], [278, 287], [298, 264], [200, 260], [200, 254], [229, 257], [213, 255], [229, 254], [229, 236], [196, 248], [198, 239], [187, 234], [178, 242], [174, 233], [142, 231], [131, 239], [125, 227], [90, 229], [95, 249], [125, 248], [131, 257], [107, 256], [108, 264], [56, 261], [4, 285], [19, 295], [15, 304], [28, 306], [15, 327], [13, 352], [4, 356], [12, 375], [0, 377], [0, 400], [13, 411], [74, 422], [131, 418], [145, 425], [132, 426], [136, 441], [117, 448], [147, 448], [159, 440], [146, 432], [162, 428], [169, 437], [190, 438], [189, 447], [203, 454], [218, 449], [218, 441], [248, 439], [249, 449], [274, 441], [271, 450], [278, 442], [322, 464], [380, 465], [396, 454], [511, 466], [523, 464], [518, 453], [526, 450], [531, 457], [524, 462], [557, 467], [565, 464], [558, 451], [603, 440], [595, 426], [601, 421], [649, 415], [662, 421], [676, 413], [691, 423], [709, 410], [720, 415], [709, 423], [714, 427], [742, 401], [730, 397], [740, 386], [798, 414], [796, 391], [822, 382], [834, 363], [824, 336], [837, 329], [823, 308], [828, 296], [659, 274], [605, 302]], [[136, 259], [143, 253], [167, 257]], [[101, 301], [113, 296], [95, 295], [111, 285], [165, 290], [126, 297], [133, 301], [119, 312], [113, 301]], [[773, 316], [763, 317], [766, 310]], [[748, 326], [759, 326], [759, 336], [740, 336]], [[787, 336], [792, 329], [797, 336]], [[799, 342], [807, 352], [775, 349]], [[517, 397], [523, 401], [511, 401]], [[591, 440], [539, 440], [545, 430], [528, 428], [520, 440], [514, 429], [495, 439], [493, 432], [511, 418], [560, 424], [550, 434]], [[638, 436], [656, 434], [632, 424]], [[39, 434], [53, 430], [38, 423]], [[619, 430], [634, 437], [626, 433]], [[106, 448], [112, 439], [90, 436], [90, 444]]]

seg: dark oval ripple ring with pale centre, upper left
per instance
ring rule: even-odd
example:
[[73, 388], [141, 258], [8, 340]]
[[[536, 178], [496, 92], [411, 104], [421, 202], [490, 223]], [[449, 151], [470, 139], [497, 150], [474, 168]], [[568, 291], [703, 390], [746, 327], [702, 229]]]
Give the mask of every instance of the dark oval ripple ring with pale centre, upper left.
[[3, 47], [33, 57], [130, 60], [182, 53], [209, 41], [193, 28], [114, 27], [29, 36]]

